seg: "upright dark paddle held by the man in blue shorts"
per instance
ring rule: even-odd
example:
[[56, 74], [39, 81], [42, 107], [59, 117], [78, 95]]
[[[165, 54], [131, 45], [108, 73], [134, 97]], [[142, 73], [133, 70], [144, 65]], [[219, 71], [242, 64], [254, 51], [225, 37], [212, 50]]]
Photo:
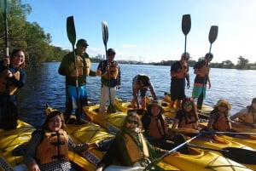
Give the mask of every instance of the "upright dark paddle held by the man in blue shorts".
[[[74, 49], [74, 44], [76, 43], [76, 30], [74, 26], [73, 16], [67, 17], [67, 37], [69, 42], [72, 44], [74, 66], [75, 66], [75, 70], [77, 70], [77, 57]], [[78, 112], [76, 112], [76, 123], [80, 124], [81, 108], [80, 108], [80, 102], [79, 102], [79, 77], [76, 77], [76, 90], [77, 90], [77, 105], [78, 105]]]

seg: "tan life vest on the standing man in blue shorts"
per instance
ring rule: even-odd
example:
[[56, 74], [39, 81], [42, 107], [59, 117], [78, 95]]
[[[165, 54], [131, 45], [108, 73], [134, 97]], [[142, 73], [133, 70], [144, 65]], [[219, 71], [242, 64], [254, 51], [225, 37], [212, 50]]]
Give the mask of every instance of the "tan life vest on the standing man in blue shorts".
[[[85, 75], [89, 76], [89, 74], [90, 74], [90, 59], [85, 58], [83, 60], [83, 58], [80, 55], [77, 55], [76, 60], [77, 60], [77, 69], [79, 70], [79, 76], [83, 76], [84, 71], [85, 71]], [[75, 65], [74, 65], [74, 63], [71, 63], [69, 66], [70, 73], [72, 73], [74, 70], [75, 70]]]

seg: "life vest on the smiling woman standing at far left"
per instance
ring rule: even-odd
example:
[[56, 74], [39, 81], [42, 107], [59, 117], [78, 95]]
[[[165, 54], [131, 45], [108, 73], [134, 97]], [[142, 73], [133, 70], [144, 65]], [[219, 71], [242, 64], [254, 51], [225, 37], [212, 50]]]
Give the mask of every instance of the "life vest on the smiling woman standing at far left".
[[[20, 71], [16, 71], [15, 73], [13, 73], [13, 75], [17, 80], [20, 80]], [[9, 95], [15, 94], [16, 91], [17, 91], [17, 87], [15, 87], [14, 83], [9, 81]], [[0, 76], [0, 93], [8, 94], [7, 79], [3, 75]]]

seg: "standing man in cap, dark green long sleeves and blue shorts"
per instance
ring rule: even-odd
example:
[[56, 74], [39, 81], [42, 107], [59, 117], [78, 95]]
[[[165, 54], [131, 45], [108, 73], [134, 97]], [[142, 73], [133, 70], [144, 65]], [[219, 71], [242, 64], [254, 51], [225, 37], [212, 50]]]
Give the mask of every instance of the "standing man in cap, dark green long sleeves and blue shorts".
[[[86, 90], [86, 77], [96, 76], [95, 71], [90, 71], [90, 58], [85, 52], [88, 43], [84, 39], [79, 39], [75, 48], [75, 58], [73, 52], [66, 54], [59, 67], [59, 74], [66, 77], [66, 111], [65, 122], [70, 123], [70, 116], [73, 109], [76, 109], [76, 116], [81, 116], [83, 105], [88, 105], [87, 90]], [[75, 62], [76, 60], [76, 62]], [[77, 85], [79, 83], [79, 102], [77, 101]], [[79, 105], [78, 105], [79, 103]], [[80, 110], [78, 109], [80, 106]], [[77, 118], [77, 124], [81, 123], [81, 119]]]

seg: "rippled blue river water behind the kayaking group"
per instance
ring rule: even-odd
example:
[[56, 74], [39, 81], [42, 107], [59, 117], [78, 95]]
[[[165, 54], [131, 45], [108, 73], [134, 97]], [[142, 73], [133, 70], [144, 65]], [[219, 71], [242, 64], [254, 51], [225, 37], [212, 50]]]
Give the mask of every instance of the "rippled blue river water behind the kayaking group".
[[[46, 103], [65, 111], [65, 78], [58, 74], [60, 62], [44, 63], [41, 67], [26, 71], [26, 86], [18, 92], [18, 107], [20, 119], [39, 127], [44, 123]], [[97, 64], [92, 64], [96, 71]], [[138, 73], [151, 77], [156, 95], [163, 99], [164, 93], [170, 91], [170, 66], [120, 65], [122, 88], [117, 90], [117, 97], [131, 100], [131, 80]], [[190, 88], [185, 93], [191, 96], [195, 74], [189, 69]], [[207, 89], [205, 105], [215, 105], [218, 99], [229, 100], [232, 108], [231, 115], [242, 107], [250, 105], [256, 97], [256, 71], [235, 69], [211, 69], [212, 88]], [[100, 101], [100, 77], [87, 78], [89, 100]], [[151, 95], [148, 91], [148, 95]]]

